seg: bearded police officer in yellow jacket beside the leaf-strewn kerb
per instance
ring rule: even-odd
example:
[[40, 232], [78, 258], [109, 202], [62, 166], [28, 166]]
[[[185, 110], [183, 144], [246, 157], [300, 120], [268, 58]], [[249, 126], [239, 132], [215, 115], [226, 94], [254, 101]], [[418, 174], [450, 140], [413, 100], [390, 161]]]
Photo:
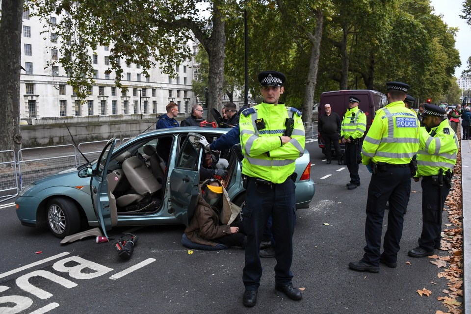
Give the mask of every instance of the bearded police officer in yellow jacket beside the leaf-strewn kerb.
[[415, 182], [422, 178], [422, 233], [419, 246], [409, 256], [433, 255], [440, 248], [442, 212], [451, 187], [451, 170], [456, 164], [458, 137], [450, 128], [445, 109], [425, 105], [423, 124], [419, 129], [419, 152]]

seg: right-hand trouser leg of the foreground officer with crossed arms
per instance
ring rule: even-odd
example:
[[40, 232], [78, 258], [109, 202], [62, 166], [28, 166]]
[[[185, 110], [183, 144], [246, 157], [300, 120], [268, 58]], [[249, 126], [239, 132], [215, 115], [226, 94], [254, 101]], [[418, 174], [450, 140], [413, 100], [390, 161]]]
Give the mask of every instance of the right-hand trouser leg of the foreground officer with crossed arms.
[[291, 179], [284, 183], [276, 184], [274, 188], [272, 232], [276, 242], [275, 286], [277, 287], [292, 284], [292, 236], [296, 223], [294, 189], [295, 185]]

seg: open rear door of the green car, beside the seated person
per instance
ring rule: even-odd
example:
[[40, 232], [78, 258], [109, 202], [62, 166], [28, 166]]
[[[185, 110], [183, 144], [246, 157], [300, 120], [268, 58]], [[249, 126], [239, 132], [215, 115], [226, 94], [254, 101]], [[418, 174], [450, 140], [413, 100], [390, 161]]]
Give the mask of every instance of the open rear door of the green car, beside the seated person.
[[169, 212], [188, 226], [198, 203], [199, 170], [203, 150], [200, 134], [188, 133], [170, 175]]

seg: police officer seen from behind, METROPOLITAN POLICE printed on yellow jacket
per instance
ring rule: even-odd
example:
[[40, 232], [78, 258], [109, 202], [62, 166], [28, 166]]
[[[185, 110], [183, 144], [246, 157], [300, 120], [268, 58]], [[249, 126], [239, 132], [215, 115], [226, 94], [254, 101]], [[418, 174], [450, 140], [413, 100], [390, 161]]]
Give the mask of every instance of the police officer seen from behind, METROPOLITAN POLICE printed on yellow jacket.
[[[379, 263], [395, 268], [402, 236], [404, 212], [411, 193], [412, 157], [419, 150], [419, 120], [404, 106], [409, 85], [387, 82], [389, 105], [376, 111], [362, 148], [362, 162], [372, 173], [366, 201], [363, 259], [348, 267], [378, 272]], [[389, 200], [388, 230], [381, 235], [386, 202]]]

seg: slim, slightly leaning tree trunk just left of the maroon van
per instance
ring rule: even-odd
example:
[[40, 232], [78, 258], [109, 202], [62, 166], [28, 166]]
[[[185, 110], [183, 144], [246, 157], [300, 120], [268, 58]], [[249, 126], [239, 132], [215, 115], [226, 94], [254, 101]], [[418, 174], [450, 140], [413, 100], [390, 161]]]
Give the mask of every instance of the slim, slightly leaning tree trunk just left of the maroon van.
[[306, 93], [303, 104], [303, 122], [313, 121], [314, 92], [317, 83], [317, 71], [319, 70], [320, 40], [322, 39], [323, 12], [315, 11], [317, 23], [314, 34], [309, 33], [309, 39], [312, 44], [311, 58], [309, 60], [308, 79], [306, 82]]

